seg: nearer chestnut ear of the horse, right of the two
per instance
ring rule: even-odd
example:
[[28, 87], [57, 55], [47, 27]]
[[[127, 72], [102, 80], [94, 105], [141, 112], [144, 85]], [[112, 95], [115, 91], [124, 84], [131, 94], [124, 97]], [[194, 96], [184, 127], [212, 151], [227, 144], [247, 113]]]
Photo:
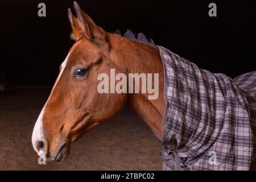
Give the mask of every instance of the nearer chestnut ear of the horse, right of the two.
[[76, 1], [74, 1], [74, 7], [77, 15], [77, 23], [86, 38], [96, 43], [105, 42], [107, 38], [106, 32], [101, 27], [98, 27], [92, 18], [80, 9]]

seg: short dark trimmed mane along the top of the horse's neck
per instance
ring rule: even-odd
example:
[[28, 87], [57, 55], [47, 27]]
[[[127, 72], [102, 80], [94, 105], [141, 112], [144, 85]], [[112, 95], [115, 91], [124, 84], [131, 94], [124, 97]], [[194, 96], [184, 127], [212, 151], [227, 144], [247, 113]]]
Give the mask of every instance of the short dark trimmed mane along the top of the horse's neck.
[[[115, 30], [113, 33], [122, 36], [121, 31], [119, 29]], [[131, 30], [128, 29], [125, 32], [125, 34], [123, 34], [122, 37], [126, 38], [126, 39], [129, 39], [129, 40], [137, 40], [138, 42], [142, 42], [142, 43], [145, 43], [145, 44], [149, 44], [151, 46], [155, 46], [154, 41], [152, 39], [147, 39], [146, 36], [142, 32], [139, 33], [136, 37], [134, 32], [132, 32]]]

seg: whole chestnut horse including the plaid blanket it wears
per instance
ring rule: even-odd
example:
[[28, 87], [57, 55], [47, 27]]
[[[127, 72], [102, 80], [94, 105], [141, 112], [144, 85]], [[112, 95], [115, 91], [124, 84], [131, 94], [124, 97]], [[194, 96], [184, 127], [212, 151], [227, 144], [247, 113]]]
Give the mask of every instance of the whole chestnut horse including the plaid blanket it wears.
[[[235, 132], [234, 130], [240, 130], [241, 132], [243, 129], [246, 129], [244, 130], [246, 134], [242, 133], [243, 138], [240, 137], [241, 133], [239, 135], [230, 135], [230, 138], [233, 138], [233, 140], [238, 140], [234, 145], [242, 143], [242, 146], [239, 144], [237, 144], [237, 148], [222, 146], [222, 148], [226, 148], [229, 154], [233, 152], [230, 156], [226, 156], [228, 154], [225, 154], [224, 160], [221, 158], [224, 156], [223, 150], [220, 149], [220, 146], [214, 146], [214, 142], [216, 143], [216, 140], [218, 144], [227, 142], [223, 139], [226, 135], [225, 132], [223, 133], [223, 128], [229, 126], [226, 123], [230, 123], [226, 119], [227, 114], [224, 114], [224, 118], [218, 118], [214, 114], [208, 114], [212, 112], [220, 114], [220, 112], [217, 109], [216, 111], [212, 110], [212, 106], [207, 105], [206, 102], [203, 104], [200, 102], [197, 103], [197, 110], [193, 110], [193, 107], [189, 111], [188, 108], [192, 107], [195, 101], [193, 97], [204, 100], [203, 96], [205, 96], [205, 93], [200, 93], [200, 89], [199, 91], [194, 90], [195, 93], [189, 93], [189, 97], [186, 95], [185, 100], [187, 101], [181, 102], [178, 99], [181, 95], [179, 93], [186, 93], [191, 89], [195, 89], [191, 87], [192, 82], [199, 81], [200, 83], [201, 81], [203, 84], [207, 82], [206, 86], [203, 85], [206, 88], [205, 92], [208, 93], [210, 92], [208, 89], [214, 88], [216, 92], [219, 91], [221, 93], [220, 97], [223, 96], [225, 98], [226, 107], [228, 107], [226, 103], [229, 103], [226, 94], [228, 93], [227, 85], [234, 88], [235, 92], [232, 91], [232, 93], [238, 93], [239, 95], [236, 98], [240, 98], [239, 101], [246, 101], [246, 104], [242, 106], [240, 102], [237, 102], [239, 106], [238, 110], [236, 110], [237, 113], [246, 112], [248, 108], [249, 110], [252, 108], [255, 109], [256, 104], [247, 103], [249, 98], [256, 100], [255, 94], [247, 94], [248, 85], [242, 86], [240, 84], [241, 80], [245, 81], [243, 78], [248, 77], [248, 75], [238, 77], [236, 79], [237, 84], [235, 84], [235, 81], [228, 76], [214, 75], [213, 73], [203, 71], [189, 61], [169, 52], [167, 49], [155, 46], [152, 41], [147, 41], [143, 34], [140, 34], [138, 36], [139, 38], [135, 38], [134, 34], [129, 31], [127, 36], [124, 37], [115, 33], [106, 32], [97, 26], [89, 15], [81, 10], [77, 2], [74, 2], [74, 8], [77, 17], [72, 15], [71, 9], [68, 9], [68, 18], [72, 27], [71, 38], [75, 40], [75, 43], [60, 66], [59, 76], [53, 85], [46, 104], [39, 114], [32, 133], [32, 146], [39, 156], [45, 155], [47, 160], [60, 162], [61, 159], [68, 157], [71, 143], [75, 142], [100, 123], [114, 117], [127, 106], [134, 110], [147, 123], [156, 137], [163, 141], [161, 150], [164, 158], [163, 169], [225, 170], [250, 168], [254, 161], [253, 152], [255, 152], [253, 151], [255, 150], [255, 146], [253, 146], [255, 132], [252, 128], [256, 126], [256, 121], [255, 119], [253, 120], [253, 115], [248, 115], [248, 119], [243, 118], [245, 120], [244, 123], [246, 123], [246, 125], [244, 124], [245, 126], [241, 126], [241, 123], [236, 127], [233, 127], [233, 125], [230, 126], [231, 128], [229, 129], [233, 132]], [[170, 60], [175, 60], [174, 64], [177, 70], [172, 70]], [[181, 67], [182, 69], [179, 69]], [[155, 84], [155, 82], [152, 84], [152, 86], [159, 87], [158, 98], [154, 100], [148, 99], [150, 93], [141, 92], [141, 89], [137, 93], [99, 93], [97, 89], [97, 85], [100, 82], [98, 75], [106, 73], [110, 77], [110, 69], [114, 69], [116, 74], [120, 73], [126, 76], [129, 73], [138, 73], [139, 75], [142, 73], [158, 73], [158, 84]], [[191, 69], [192, 73], [197, 73], [198, 70], [198, 74], [195, 77], [191, 77], [190, 81], [184, 81], [184, 75], [190, 74], [188, 73], [188, 69]], [[179, 77], [179, 74], [183, 75], [182, 78]], [[180, 79], [175, 78], [175, 80], [175, 75]], [[255, 78], [255, 76], [255, 72], [250, 73], [250, 77]], [[168, 80], [167, 77], [171, 80]], [[226, 82], [224, 81], [224, 86], [218, 90], [218, 82], [222, 83], [223, 80], [226, 80]], [[117, 84], [118, 80], [114, 80], [114, 82]], [[182, 84], [186, 84], [188, 87], [177, 86], [180, 82], [183, 82]], [[250, 84], [250, 88], [255, 90], [254, 86], [256, 85], [253, 83]], [[239, 84], [240, 86], [237, 86]], [[199, 84], [199, 88], [201, 86]], [[168, 96], [166, 94], [167, 92], [172, 93], [172, 97]], [[216, 96], [217, 99], [218, 95], [216, 93], [211, 94], [212, 96]], [[212, 100], [211, 97], [205, 96], [205, 98], [210, 100], [209, 102], [214, 102], [214, 99]], [[189, 104], [186, 105], [184, 104], [185, 102]], [[174, 105], [181, 103], [183, 105], [179, 109], [173, 108]], [[217, 107], [219, 102], [214, 103], [214, 107]], [[205, 107], [201, 106], [210, 109], [205, 109], [205, 112], [203, 112], [200, 109], [204, 109]], [[197, 114], [197, 111], [199, 114]], [[226, 109], [224, 111], [226, 112]], [[224, 111], [221, 110], [222, 113]], [[170, 113], [171, 115], [168, 115]], [[204, 118], [202, 115], [205, 115]], [[233, 117], [232, 114], [228, 114], [228, 116]], [[202, 118], [210, 122], [203, 125]], [[235, 118], [241, 120], [239, 115]], [[238, 122], [240, 121], [239, 119]], [[180, 126], [180, 123], [183, 121], [193, 121], [193, 126], [191, 123], [189, 123], [189, 126]], [[218, 125], [219, 123], [220, 126]], [[205, 128], [210, 128], [211, 130], [208, 132]], [[171, 132], [171, 134], [168, 134], [168, 132]], [[223, 136], [220, 137], [221, 135]], [[211, 142], [208, 142], [209, 140]], [[200, 141], [203, 141], [203, 143], [199, 144]], [[213, 149], [212, 147], [215, 148]], [[241, 148], [242, 150], [247, 150], [247, 153], [241, 154]], [[211, 158], [208, 155], [209, 151], [217, 152], [217, 159], [213, 158], [219, 163], [217, 166], [214, 166], [216, 163], [209, 159]], [[240, 153], [238, 154], [237, 152]], [[219, 158], [218, 154], [221, 154]], [[241, 156], [246, 157], [246, 160], [241, 162]], [[228, 158], [231, 160], [237, 159], [238, 162], [232, 164]], [[195, 161], [195, 159], [198, 160]], [[209, 164], [203, 164], [208, 163], [208, 159]], [[222, 164], [225, 165], [223, 166]], [[199, 166], [202, 165], [204, 167], [200, 168]]]

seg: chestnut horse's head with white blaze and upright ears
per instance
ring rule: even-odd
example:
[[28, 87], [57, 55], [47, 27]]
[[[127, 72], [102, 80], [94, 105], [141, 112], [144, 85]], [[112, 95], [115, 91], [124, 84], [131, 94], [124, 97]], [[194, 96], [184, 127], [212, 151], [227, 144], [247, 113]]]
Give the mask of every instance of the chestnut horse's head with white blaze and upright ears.
[[[32, 134], [39, 155], [60, 161], [69, 146], [82, 134], [117, 114], [126, 104], [127, 94], [97, 92], [100, 73], [123, 72], [110, 48], [110, 33], [98, 27], [74, 2], [77, 18], [68, 9], [71, 38], [76, 40], [60, 66], [52, 91]], [[115, 35], [112, 35], [115, 36]]]

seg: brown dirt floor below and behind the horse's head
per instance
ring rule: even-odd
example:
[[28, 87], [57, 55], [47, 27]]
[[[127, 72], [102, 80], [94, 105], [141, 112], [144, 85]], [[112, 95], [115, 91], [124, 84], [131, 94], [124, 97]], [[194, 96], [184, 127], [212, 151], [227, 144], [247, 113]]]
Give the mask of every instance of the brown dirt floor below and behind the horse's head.
[[0, 96], [0, 170], [161, 170], [161, 142], [125, 109], [72, 144], [60, 163], [38, 164], [31, 145], [35, 121], [49, 89], [18, 89]]

